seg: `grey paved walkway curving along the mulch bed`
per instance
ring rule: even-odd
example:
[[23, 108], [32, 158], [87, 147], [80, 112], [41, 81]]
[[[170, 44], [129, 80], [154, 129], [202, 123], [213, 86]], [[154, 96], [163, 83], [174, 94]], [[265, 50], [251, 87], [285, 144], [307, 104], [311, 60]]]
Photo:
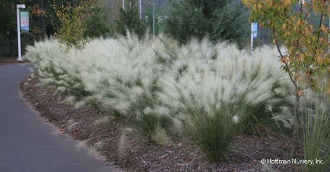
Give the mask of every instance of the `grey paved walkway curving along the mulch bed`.
[[22, 98], [19, 81], [29, 64], [0, 65], [0, 171], [117, 171], [77, 141], [45, 123]]

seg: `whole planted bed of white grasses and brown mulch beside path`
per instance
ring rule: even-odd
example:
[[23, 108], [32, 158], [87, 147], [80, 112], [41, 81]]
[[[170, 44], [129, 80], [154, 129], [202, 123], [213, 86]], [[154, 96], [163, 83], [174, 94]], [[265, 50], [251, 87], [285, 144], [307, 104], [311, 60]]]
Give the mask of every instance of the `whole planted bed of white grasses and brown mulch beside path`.
[[322, 89], [294, 93], [274, 47], [127, 33], [82, 49], [45, 40], [26, 50], [36, 72], [21, 85], [25, 97], [124, 170], [329, 169], [276, 162], [329, 162], [330, 100]]

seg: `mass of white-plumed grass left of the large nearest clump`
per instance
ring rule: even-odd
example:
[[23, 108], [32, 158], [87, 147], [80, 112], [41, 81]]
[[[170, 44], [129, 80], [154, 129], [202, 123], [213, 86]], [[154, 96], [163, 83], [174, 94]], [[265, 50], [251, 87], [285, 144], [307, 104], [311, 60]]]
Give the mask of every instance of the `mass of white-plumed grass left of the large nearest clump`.
[[139, 39], [127, 33], [68, 51], [62, 51], [64, 45], [56, 40], [46, 40], [28, 47], [26, 57], [38, 68], [43, 84], [70, 95], [68, 100], [79, 100], [78, 107], [93, 104], [137, 125], [151, 138], [157, 127], [171, 123], [154, 106], [159, 77], [173, 61], [175, 45], [164, 36]]

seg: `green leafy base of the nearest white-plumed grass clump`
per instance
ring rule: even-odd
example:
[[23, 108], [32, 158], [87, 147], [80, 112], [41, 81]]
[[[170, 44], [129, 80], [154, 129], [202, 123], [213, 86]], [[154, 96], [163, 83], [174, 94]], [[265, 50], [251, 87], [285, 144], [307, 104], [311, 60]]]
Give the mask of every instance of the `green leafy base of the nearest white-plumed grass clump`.
[[230, 150], [228, 148], [230, 141], [239, 131], [238, 120], [233, 119], [234, 109], [234, 107], [221, 107], [221, 109], [214, 107], [213, 116], [196, 107], [191, 107], [191, 111], [187, 112], [189, 121], [184, 123], [185, 131], [201, 146], [212, 162], [226, 157]]

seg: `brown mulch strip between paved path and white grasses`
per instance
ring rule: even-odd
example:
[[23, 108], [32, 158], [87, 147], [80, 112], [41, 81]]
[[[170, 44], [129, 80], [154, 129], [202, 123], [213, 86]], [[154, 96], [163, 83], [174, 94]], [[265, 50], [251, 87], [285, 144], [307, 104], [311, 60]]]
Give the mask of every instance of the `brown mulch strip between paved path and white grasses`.
[[[38, 86], [38, 77], [23, 81], [19, 88], [40, 116], [73, 139], [84, 141], [100, 151], [110, 164], [123, 171], [294, 171], [290, 164], [260, 163], [260, 159], [288, 159], [290, 146], [280, 136], [236, 136], [228, 160], [211, 163], [201, 150], [186, 140], [173, 141], [173, 146], [157, 146], [143, 136], [125, 134], [125, 121], [111, 118], [109, 123], [95, 125], [107, 114], [93, 107], [74, 108], [61, 102], [49, 88]], [[29, 84], [27, 84], [29, 83]]]

